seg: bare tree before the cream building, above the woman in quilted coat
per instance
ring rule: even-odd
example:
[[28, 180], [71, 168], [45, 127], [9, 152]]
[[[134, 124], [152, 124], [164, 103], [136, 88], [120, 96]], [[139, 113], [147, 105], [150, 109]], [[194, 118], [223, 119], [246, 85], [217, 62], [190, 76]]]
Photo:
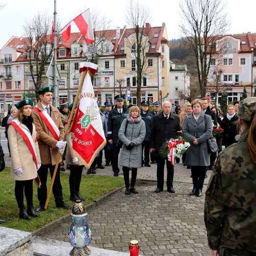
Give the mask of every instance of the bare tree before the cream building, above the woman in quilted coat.
[[147, 67], [147, 49], [149, 47], [148, 35], [145, 33], [145, 24], [150, 22], [151, 16], [147, 6], [139, 4], [136, 0], [130, 0], [126, 10], [127, 26], [134, 30], [135, 37], [127, 40], [127, 48], [131, 49], [131, 60], [135, 59], [137, 67], [137, 105], [140, 105], [140, 89]]

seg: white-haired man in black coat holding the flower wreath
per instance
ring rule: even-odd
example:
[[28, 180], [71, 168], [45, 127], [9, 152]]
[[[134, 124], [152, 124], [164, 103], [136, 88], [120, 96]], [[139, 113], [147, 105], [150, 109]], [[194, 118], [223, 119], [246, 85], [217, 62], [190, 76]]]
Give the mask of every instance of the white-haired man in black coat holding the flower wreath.
[[169, 193], [175, 193], [173, 188], [174, 166], [169, 160], [159, 156], [161, 145], [171, 138], [175, 138], [177, 132], [181, 131], [180, 118], [178, 115], [170, 113], [172, 105], [169, 101], [163, 102], [163, 112], [153, 117], [153, 124], [150, 134], [150, 152], [155, 151], [158, 155], [157, 159], [157, 189], [156, 193], [163, 191], [164, 183], [164, 164], [166, 160], [167, 179], [166, 186]]

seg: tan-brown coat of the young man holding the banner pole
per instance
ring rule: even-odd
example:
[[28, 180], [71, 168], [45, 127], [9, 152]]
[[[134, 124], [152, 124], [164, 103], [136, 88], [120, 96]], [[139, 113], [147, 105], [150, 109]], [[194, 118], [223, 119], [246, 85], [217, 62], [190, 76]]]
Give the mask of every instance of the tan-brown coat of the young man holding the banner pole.
[[[40, 111], [44, 111], [44, 107], [42, 106], [40, 101], [38, 101], [37, 107]], [[60, 132], [59, 141], [63, 140], [65, 133], [64, 133], [63, 124], [61, 122], [60, 113], [51, 104], [50, 104], [50, 108], [51, 108], [51, 118], [53, 122], [57, 125]], [[57, 157], [59, 153], [58, 148], [55, 147], [58, 141], [54, 139], [47, 125], [35, 110], [32, 110], [31, 116], [34, 119], [34, 124], [36, 127], [41, 163], [55, 165], [57, 162]], [[61, 157], [58, 163], [60, 162], [61, 162]]]

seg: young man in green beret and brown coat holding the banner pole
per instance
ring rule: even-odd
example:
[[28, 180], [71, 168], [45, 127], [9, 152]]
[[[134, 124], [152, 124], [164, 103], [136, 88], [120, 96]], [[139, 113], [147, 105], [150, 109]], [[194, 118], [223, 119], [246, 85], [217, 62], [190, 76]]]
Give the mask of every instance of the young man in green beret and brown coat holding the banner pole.
[[[47, 175], [50, 169], [53, 176], [55, 165], [58, 165], [57, 173], [53, 183], [53, 195], [57, 207], [72, 209], [63, 202], [62, 186], [60, 183], [59, 163], [56, 162], [58, 154], [63, 154], [66, 142], [63, 142], [64, 127], [60, 118], [59, 111], [51, 105], [53, 87], [42, 87], [37, 93], [40, 100], [32, 110], [31, 116], [37, 132], [38, 146], [41, 157], [41, 167], [38, 169], [38, 176], [41, 181], [41, 187], [37, 189], [37, 198], [40, 206], [36, 211], [43, 211], [47, 200]], [[60, 159], [61, 161], [61, 159]]]

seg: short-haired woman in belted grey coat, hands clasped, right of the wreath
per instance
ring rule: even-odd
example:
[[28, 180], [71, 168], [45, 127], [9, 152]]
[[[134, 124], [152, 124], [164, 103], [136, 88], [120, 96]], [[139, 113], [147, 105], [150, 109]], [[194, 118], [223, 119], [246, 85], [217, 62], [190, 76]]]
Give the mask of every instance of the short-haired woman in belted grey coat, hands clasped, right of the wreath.
[[203, 103], [195, 99], [191, 103], [193, 114], [187, 116], [183, 124], [183, 135], [190, 143], [186, 153], [185, 164], [191, 166], [193, 179], [193, 190], [190, 196], [202, 196], [202, 189], [205, 178], [205, 167], [210, 164], [207, 139], [212, 133], [212, 121], [209, 115], [203, 111]]

